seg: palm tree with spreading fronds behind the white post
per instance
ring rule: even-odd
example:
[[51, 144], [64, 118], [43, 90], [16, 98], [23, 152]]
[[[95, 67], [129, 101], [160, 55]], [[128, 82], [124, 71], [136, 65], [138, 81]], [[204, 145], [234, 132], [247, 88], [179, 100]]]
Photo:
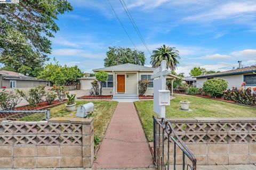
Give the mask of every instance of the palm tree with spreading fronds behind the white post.
[[153, 55], [150, 57], [150, 64], [153, 67], [161, 65], [163, 60], [166, 61], [166, 69], [175, 70], [177, 64], [179, 64], [179, 51], [175, 47], [161, 46], [157, 50], [153, 51]]

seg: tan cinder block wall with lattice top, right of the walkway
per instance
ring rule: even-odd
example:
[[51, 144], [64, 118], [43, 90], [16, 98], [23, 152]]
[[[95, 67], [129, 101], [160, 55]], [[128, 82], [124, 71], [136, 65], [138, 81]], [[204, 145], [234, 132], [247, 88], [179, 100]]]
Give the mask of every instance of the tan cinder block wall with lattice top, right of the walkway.
[[[167, 120], [195, 155], [197, 165], [256, 163], [256, 118], [175, 118]], [[162, 157], [162, 133], [156, 129], [156, 150]], [[173, 133], [172, 133], [173, 134]], [[164, 161], [167, 162], [167, 138], [164, 139]], [[170, 140], [169, 164], [173, 164], [173, 142]], [[176, 162], [182, 164], [182, 151], [177, 146]], [[191, 164], [188, 158], [186, 162]]]

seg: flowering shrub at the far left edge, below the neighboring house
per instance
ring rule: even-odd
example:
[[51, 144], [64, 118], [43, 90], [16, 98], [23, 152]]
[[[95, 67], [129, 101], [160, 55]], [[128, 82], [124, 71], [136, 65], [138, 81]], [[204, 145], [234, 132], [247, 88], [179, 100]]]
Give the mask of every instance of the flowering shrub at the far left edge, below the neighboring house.
[[3, 90], [0, 92], [0, 107], [5, 111], [13, 111], [20, 101], [20, 96], [12, 91], [7, 92]]

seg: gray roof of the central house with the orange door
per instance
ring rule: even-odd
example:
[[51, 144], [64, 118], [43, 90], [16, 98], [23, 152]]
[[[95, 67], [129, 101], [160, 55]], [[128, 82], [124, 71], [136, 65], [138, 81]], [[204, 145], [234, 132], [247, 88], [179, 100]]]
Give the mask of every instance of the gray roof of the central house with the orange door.
[[154, 71], [155, 68], [153, 67], [147, 67], [143, 65], [137, 65], [137, 64], [120, 64], [120, 65], [114, 65], [110, 67], [104, 67], [100, 69], [94, 69], [93, 71]]

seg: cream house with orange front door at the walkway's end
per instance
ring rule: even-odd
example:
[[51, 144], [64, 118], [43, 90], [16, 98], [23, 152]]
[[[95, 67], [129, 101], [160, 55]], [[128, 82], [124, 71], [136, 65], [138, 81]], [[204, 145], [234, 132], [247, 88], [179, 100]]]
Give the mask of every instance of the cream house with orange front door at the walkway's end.
[[[108, 73], [108, 81], [103, 84], [102, 95], [113, 95], [115, 97], [131, 96], [138, 98], [138, 81], [148, 80], [148, 89], [145, 95], [153, 95], [153, 71], [155, 68], [136, 64], [121, 64], [115, 66], [94, 69], [94, 72], [106, 71]], [[174, 80], [179, 78], [175, 75], [167, 75], [167, 79]], [[91, 82], [95, 77], [80, 78], [81, 89], [90, 90]]]

